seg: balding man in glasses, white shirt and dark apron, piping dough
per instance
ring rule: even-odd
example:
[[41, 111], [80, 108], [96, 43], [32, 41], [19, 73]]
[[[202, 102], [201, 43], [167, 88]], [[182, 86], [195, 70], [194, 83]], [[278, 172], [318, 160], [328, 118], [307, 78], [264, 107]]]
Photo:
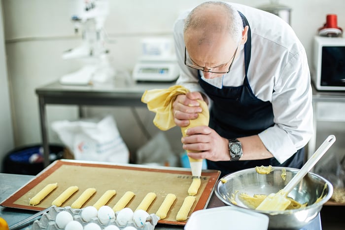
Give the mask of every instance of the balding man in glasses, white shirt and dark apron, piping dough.
[[[173, 103], [176, 125], [210, 108], [183, 149], [222, 175], [261, 165], [301, 168], [312, 134], [307, 55], [279, 17], [241, 4], [204, 2], [174, 25], [180, 77], [191, 92]], [[201, 152], [199, 152], [201, 151]]]

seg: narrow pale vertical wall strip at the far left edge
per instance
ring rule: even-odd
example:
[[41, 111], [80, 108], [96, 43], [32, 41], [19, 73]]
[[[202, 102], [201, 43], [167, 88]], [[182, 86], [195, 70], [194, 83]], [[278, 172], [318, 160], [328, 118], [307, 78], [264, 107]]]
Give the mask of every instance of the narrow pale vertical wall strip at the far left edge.
[[0, 172], [2, 167], [1, 158], [14, 146], [2, 15], [2, 4], [0, 2]]

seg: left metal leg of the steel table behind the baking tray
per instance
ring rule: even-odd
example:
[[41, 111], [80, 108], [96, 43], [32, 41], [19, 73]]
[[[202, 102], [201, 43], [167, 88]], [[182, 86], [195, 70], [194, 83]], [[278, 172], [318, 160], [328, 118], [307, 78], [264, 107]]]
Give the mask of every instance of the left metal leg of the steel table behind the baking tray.
[[42, 135], [42, 145], [43, 145], [43, 157], [44, 157], [44, 167], [50, 164], [49, 161], [49, 142], [48, 142], [48, 131], [47, 131], [47, 118], [45, 111], [45, 102], [43, 97], [38, 98], [39, 101], [39, 117], [41, 122], [41, 135]]

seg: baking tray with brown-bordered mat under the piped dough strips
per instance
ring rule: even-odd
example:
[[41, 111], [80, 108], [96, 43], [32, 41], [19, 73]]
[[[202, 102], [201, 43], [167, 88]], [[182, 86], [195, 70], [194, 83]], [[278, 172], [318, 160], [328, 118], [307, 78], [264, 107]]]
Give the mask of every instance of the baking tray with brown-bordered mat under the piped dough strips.
[[[195, 195], [196, 201], [188, 216], [194, 211], [207, 207], [219, 175], [220, 171], [217, 170], [203, 170], [201, 186]], [[120, 165], [62, 159], [54, 161], [26, 185], [5, 199], [0, 205], [41, 211], [50, 207], [52, 201], [69, 186], [78, 186], [79, 190], [63, 203], [63, 207], [70, 206], [88, 188], [95, 188], [97, 192], [83, 207], [94, 205], [105, 191], [116, 190], [116, 195], [106, 205], [113, 207], [125, 192], [132, 191], [136, 195], [127, 207], [135, 210], [148, 192], [155, 192], [157, 197], [147, 210], [151, 214], [156, 213], [168, 193], [173, 193], [176, 195], [176, 200], [167, 217], [158, 223], [185, 225], [186, 222], [178, 222], [175, 220], [175, 217], [184, 198], [188, 195], [187, 190], [191, 182], [192, 175], [190, 169], [185, 168], [149, 167], [136, 164]], [[58, 183], [58, 187], [38, 205], [31, 206], [29, 204], [30, 198], [47, 184], [51, 183]]]

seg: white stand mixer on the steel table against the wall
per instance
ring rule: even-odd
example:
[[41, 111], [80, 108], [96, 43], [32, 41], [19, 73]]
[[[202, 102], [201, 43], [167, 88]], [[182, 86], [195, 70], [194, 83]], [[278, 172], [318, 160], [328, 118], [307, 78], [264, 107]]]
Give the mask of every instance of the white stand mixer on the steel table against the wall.
[[60, 78], [61, 84], [88, 85], [104, 83], [114, 77], [108, 51], [104, 47], [103, 25], [108, 14], [108, 0], [76, 0], [76, 14], [72, 16], [75, 31], [82, 31], [80, 46], [65, 51], [63, 59], [80, 59], [84, 66]]

